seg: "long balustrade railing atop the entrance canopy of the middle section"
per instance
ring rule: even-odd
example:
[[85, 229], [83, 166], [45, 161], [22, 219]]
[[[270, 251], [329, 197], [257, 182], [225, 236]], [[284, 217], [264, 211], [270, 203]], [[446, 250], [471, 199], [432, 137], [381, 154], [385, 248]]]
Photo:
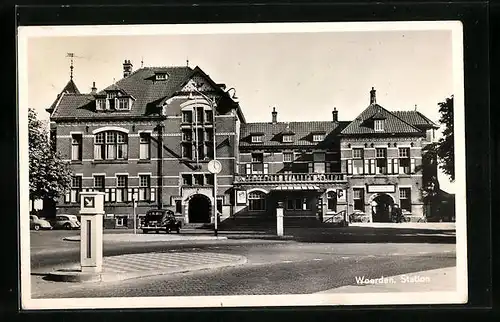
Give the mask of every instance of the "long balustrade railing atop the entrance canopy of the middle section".
[[343, 173], [273, 173], [236, 176], [236, 182], [331, 182], [345, 181]]

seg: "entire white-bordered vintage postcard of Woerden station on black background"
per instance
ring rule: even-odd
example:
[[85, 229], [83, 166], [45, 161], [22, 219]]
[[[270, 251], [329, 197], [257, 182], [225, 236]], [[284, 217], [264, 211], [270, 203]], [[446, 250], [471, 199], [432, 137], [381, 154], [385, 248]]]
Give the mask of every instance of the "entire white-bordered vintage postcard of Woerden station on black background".
[[23, 309], [467, 302], [460, 22], [17, 44]]

